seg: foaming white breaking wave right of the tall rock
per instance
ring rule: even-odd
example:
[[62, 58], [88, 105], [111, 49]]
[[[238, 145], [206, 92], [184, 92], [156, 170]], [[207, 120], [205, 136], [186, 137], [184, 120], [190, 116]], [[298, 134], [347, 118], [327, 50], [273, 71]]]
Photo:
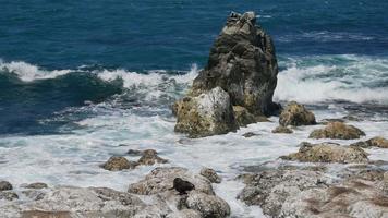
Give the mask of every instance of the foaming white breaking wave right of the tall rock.
[[388, 60], [360, 56], [288, 59], [278, 75], [276, 100], [388, 102]]

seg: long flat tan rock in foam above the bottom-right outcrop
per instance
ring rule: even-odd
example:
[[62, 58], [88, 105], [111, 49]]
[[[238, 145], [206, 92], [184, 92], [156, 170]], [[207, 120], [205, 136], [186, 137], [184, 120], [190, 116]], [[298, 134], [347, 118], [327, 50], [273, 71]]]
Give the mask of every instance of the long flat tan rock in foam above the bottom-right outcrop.
[[282, 159], [303, 162], [367, 162], [367, 154], [359, 147], [341, 146], [334, 143], [302, 143], [298, 153], [283, 156]]

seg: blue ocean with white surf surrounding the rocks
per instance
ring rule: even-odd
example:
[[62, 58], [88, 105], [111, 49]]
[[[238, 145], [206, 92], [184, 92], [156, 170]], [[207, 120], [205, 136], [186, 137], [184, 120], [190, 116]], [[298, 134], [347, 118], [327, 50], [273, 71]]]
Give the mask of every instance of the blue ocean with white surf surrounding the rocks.
[[[215, 185], [237, 217], [259, 217], [235, 195], [245, 166], [298, 150], [319, 128], [274, 135], [272, 122], [191, 140], [170, 107], [206, 64], [231, 11], [255, 11], [279, 61], [274, 99], [296, 100], [317, 120], [354, 116], [366, 137], [388, 137], [388, 1], [0, 0], [0, 180], [17, 186], [125, 191], [155, 166], [110, 172], [112, 155], [154, 148]], [[242, 134], [256, 132], [257, 137]], [[350, 144], [355, 141], [334, 141]], [[371, 159], [388, 152], [368, 150]], [[132, 157], [128, 157], [131, 159]]]

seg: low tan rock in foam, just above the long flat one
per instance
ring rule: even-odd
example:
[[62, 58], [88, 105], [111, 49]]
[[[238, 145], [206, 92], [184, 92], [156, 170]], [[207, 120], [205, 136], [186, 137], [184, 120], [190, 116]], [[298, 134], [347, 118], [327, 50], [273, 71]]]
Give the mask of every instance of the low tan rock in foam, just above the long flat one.
[[347, 125], [342, 122], [330, 122], [324, 129], [314, 130], [311, 138], [337, 138], [354, 140], [364, 136], [365, 133], [353, 125]]

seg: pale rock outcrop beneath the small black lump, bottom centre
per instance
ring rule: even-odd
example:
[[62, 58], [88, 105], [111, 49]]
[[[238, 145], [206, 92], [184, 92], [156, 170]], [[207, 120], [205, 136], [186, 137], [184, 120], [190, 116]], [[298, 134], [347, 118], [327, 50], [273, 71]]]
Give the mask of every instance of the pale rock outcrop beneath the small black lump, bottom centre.
[[[194, 190], [177, 191], [177, 179], [192, 184]], [[166, 203], [174, 211], [167, 217], [187, 215], [187, 217], [222, 218], [230, 215], [229, 205], [215, 195], [210, 180], [201, 174], [194, 174], [185, 168], [156, 168], [143, 180], [130, 184], [128, 191]]]

